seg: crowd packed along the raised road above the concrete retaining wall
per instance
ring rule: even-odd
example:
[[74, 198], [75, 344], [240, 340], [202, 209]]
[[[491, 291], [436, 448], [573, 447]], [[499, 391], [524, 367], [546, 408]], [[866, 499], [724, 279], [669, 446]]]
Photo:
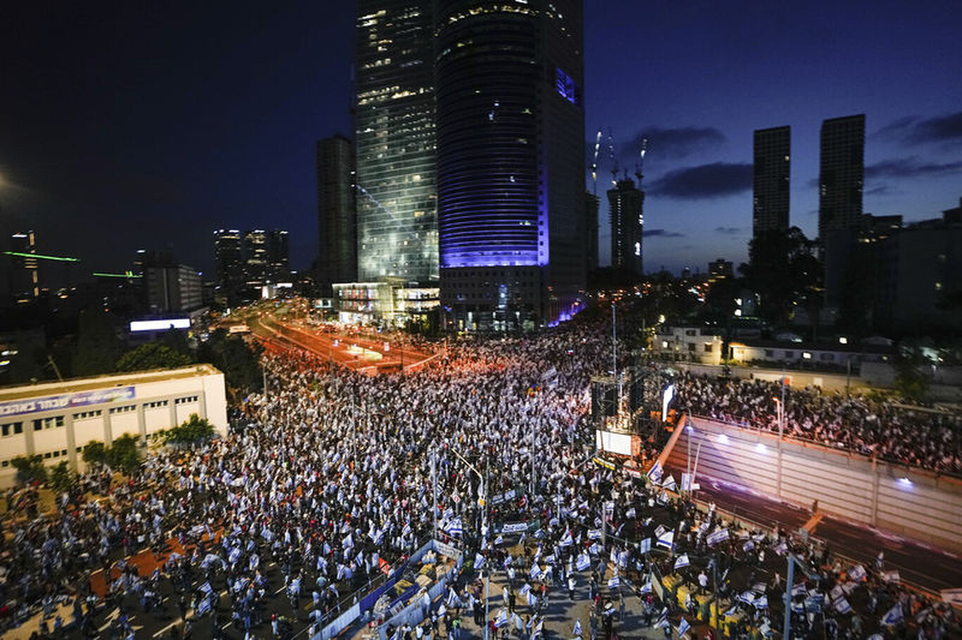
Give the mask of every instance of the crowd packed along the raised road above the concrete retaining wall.
[[[737, 380], [683, 372], [675, 406], [695, 415], [777, 432], [779, 382]], [[785, 389], [787, 437], [861, 455], [962, 474], [962, 416], [910, 408], [871, 396], [828, 394], [813, 387]]]

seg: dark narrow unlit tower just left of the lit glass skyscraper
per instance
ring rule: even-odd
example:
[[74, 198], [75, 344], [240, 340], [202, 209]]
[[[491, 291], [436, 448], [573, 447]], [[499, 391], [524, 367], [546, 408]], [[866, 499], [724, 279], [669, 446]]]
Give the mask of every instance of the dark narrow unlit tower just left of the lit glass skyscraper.
[[331, 284], [358, 277], [356, 193], [351, 141], [334, 135], [317, 142], [317, 284], [324, 296]]

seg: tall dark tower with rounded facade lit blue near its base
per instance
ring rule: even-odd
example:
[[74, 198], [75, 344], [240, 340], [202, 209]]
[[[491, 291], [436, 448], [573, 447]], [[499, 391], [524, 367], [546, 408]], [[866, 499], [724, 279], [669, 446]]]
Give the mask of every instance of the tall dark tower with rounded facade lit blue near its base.
[[586, 281], [580, 0], [439, 0], [439, 257], [448, 328], [570, 317]]

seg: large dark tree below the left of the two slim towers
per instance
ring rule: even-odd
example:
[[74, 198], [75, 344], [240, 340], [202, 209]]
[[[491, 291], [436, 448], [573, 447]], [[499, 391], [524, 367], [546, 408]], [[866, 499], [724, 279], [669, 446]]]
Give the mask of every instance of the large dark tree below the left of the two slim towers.
[[766, 320], [784, 323], [796, 305], [818, 310], [822, 263], [815, 256], [815, 242], [797, 227], [752, 238], [748, 262], [739, 270], [747, 287], [759, 294], [760, 315]]

